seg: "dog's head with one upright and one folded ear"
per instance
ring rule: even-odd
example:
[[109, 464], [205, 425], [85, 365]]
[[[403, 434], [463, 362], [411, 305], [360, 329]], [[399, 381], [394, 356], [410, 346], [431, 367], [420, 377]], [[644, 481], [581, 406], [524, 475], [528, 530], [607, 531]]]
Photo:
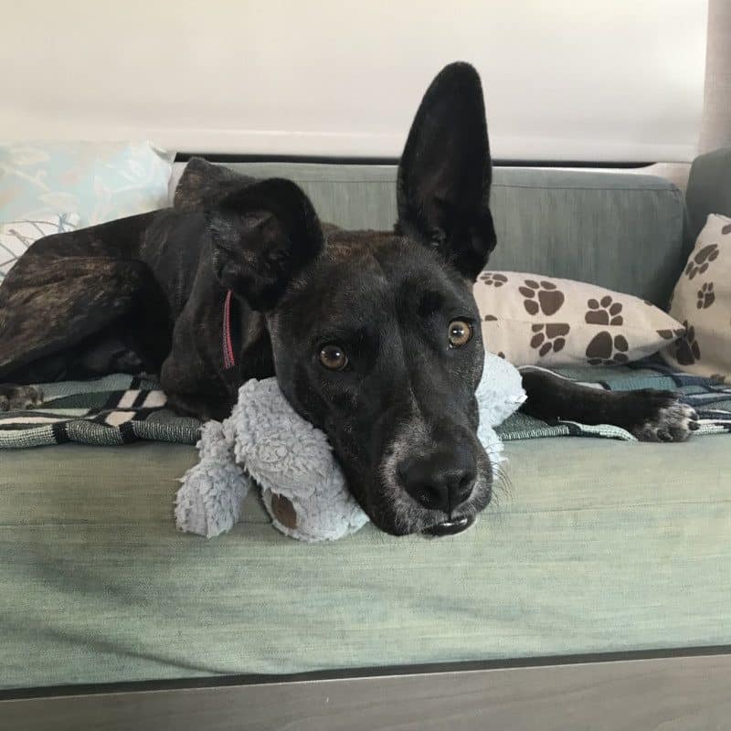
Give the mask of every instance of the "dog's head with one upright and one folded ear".
[[265, 313], [282, 391], [391, 534], [458, 532], [490, 502], [472, 297], [495, 245], [490, 182], [480, 79], [452, 64], [409, 132], [393, 233], [322, 227], [279, 179], [230, 197], [211, 222], [218, 278]]

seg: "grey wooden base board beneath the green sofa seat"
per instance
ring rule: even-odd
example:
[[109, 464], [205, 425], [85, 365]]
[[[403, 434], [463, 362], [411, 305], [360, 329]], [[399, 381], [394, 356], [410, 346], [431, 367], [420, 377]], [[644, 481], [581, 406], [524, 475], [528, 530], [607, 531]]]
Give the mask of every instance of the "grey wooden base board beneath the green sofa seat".
[[4, 697], [8, 731], [692, 731], [731, 727], [731, 652]]

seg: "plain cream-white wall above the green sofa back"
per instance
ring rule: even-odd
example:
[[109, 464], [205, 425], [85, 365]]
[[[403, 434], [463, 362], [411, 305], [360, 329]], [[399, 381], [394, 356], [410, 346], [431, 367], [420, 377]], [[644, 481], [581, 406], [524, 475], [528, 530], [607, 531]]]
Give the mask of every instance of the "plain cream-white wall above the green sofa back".
[[705, 0], [5, 0], [0, 142], [396, 156], [429, 80], [481, 71], [493, 156], [683, 161]]

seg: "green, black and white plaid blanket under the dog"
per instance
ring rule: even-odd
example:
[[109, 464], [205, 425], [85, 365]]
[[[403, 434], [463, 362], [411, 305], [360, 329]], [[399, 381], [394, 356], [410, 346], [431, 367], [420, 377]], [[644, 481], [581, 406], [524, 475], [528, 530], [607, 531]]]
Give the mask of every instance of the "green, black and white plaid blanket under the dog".
[[[668, 388], [678, 391], [700, 417], [695, 435], [731, 433], [731, 387], [701, 376], [676, 373], [656, 363], [617, 367], [560, 368], [556, 373], [608, 390]], [[0, 413], [0, 448], [62, 444], [111, 446], [138, 440], [195, 444], [201, 423], [165, 408], [164, 393], [146, 378], [106, 376], [92, 381], [43, 384], [41, 408]], [[504, 441], [539, 437], [601, 437], [634, 440], [630, 432], [609, 425], [571, 421], [546, 424], [514, 414], [497, 429]]]

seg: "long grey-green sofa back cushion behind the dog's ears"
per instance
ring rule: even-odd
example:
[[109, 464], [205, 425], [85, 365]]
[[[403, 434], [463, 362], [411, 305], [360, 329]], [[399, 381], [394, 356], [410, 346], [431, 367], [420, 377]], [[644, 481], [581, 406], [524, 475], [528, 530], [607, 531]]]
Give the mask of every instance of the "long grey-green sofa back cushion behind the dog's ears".
[[[394, 165], [238, 163], [254, 177], [289, 177], [320, 217], [344, 228], [392, 228]], [[684, 203], [652, 175], [496, 167], [491, 270], [588, 281], [664, 307], [687, 258]]]

